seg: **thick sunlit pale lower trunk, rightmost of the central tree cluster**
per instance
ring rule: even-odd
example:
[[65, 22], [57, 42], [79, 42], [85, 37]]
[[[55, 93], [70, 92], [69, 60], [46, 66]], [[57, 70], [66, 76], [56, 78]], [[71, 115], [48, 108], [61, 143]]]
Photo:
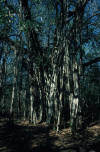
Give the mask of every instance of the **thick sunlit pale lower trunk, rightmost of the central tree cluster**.
[[76, 58], [73, 56], [72, 63], [72, 82], [73, 87], [70, 92], [69, 102], [70, 102], [70, 125], [72, 134], [74, 134], [78, 129], [79, 124], [79, 113], [80, 113], [80, 88], [79, 88], [79, 69]]

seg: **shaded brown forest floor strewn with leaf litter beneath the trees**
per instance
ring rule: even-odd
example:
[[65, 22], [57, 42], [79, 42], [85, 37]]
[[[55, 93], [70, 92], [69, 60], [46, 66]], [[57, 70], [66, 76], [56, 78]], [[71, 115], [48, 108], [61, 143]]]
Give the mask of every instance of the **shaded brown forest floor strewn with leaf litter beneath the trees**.
[[[74, 138], [69, 128], [56, 134], [45, 123], [10, 124], [0, 120], [0, 152], [100, 152], [100, 122], [92, 124]], [[93, 151], [94, 150], [94, 151]]]

